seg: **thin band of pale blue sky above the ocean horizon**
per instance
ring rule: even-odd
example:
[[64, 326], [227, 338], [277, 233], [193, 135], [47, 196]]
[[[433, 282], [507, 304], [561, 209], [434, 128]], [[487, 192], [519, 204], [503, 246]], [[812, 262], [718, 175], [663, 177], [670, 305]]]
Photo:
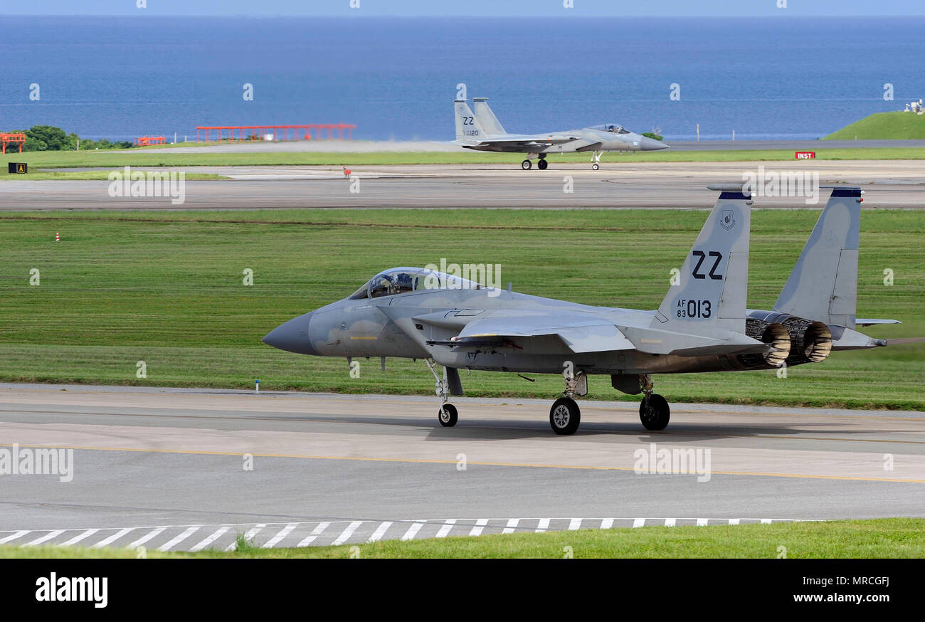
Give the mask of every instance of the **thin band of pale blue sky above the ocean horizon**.
[[[136, 2], [147, 6], [138, 8]], [[722, 16], [925, 15], [923, 0], [0, 0], [0, 14], [214, 16]], [[778, 3], [785, 3], [779, 8]], [[143, 13], [142, 13], [143, 12]]]

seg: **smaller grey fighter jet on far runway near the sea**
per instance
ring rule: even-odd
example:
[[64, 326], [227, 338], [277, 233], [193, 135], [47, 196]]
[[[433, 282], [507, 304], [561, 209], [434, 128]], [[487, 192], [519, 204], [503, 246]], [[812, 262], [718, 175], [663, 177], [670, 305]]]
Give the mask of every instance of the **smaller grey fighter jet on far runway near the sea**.
[[547, 168], [547, 154], [569, 154], [589, 151], [591, 168], [600, 168], [600, 155], [605, 151], [657, 151], [668, 144], [623, 129], [616, 123], [604, 123], [582, 130], [553, 131], [547, 134], [509, 134], [501, 127], [495, 113], [488, 107], [487, 97], [474, 97], [475, 114], [466, 100], [453, 102], [456, 111], [456, 140], [465, 149], [526, 154], [521, 163], [524, 170], [531, 168], [532, 158], [539, 158], [536, 167]]

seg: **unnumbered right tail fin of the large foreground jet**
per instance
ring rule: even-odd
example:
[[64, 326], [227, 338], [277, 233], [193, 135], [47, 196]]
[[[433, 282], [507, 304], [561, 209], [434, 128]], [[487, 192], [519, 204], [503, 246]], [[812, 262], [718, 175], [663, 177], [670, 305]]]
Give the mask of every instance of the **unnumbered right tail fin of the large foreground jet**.
[[860, 197], [857, 187], [832, 191], [774, 311], [855, 328]]

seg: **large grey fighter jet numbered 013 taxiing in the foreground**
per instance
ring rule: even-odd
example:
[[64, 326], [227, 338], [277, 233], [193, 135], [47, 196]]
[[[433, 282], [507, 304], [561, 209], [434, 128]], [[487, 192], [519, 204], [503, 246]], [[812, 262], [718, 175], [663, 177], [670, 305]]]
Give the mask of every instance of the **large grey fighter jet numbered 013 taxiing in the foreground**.
[[[549, 410], [557, 434], [578, 429], [573, 398], [587, 394], [588, 375], [610, 375], [615, 389], [643, 393], [639, 418], [646, 429], [660, 430], [670, 407], [653, 392], [652, 374], [771, 369], [825, 360], [833, 342], [886, 344], [854, 330], [856, 323], [892, 321], [854, 320], [857, 284], [849, 281], [857, 280], [859, 190], [833, 193], [774, 309], [749, 311], [752, 202], [741, 183], [709, 188], [720, 197], [657, 311], [578, 305], [394, 267], [350, 297], [290, 319], [263, 341], [304, 355], [423, 358], [437, 379], [444, 427], [458, 418], [448, 394], [462, 395], [461, 368], [561, 373], [563, 397]], [[810, 264], [820, 272], [808, 271]], [[437, 366], [444, 367], [442, 379]]]

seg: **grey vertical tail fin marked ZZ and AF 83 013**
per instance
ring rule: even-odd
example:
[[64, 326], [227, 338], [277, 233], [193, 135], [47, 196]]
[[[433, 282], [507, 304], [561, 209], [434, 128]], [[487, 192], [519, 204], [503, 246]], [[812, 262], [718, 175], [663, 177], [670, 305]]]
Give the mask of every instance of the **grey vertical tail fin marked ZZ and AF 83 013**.
[[746, 331], [751, 196], [741, 183], [708, 187], [722, 193], [661, 301], [653, 328]]

